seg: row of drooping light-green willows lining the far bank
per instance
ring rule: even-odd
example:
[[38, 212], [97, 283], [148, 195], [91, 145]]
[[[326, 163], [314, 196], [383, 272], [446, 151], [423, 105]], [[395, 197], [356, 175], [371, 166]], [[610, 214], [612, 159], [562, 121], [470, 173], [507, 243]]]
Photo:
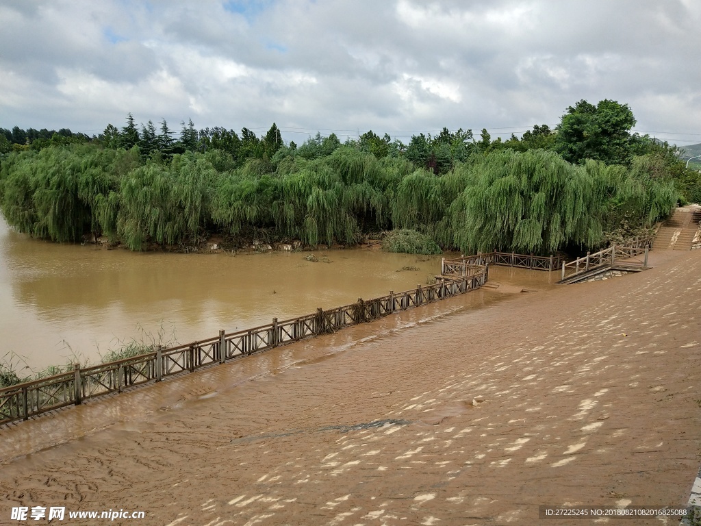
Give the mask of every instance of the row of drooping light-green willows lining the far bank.
[[650, 226], [677, 201], [669, 166], [654, 153], [624, 166], [493, 149], [437, 174], [354, 144], [306, 145], [313, 147], [320, 153], [280, 146], [271, 159], [250, 156], [243, 166], [213, 147], [168, 159], [144, 157], [138, 145], [17, 151], [2, 161], [0, 208], [32, 236], [79, 241], [92, 233], [131, 250], [255, 229], [309, 245], [355, 243], [370, 231], [402, 228], [465, 253], [547, 254], [598, 248], [622, 220]]

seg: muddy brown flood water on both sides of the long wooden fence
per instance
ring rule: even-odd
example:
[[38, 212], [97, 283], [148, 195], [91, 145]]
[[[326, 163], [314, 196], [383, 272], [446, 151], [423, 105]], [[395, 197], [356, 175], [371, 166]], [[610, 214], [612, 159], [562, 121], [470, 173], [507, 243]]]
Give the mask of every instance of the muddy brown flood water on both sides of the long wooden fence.
[[[440, 256], [320, 250], [313, 252], [320, 261], [310, 262], [309, 253], [183, 255], [60, 245], [19, 234], [0, 218], [0, 358], [34, 370], [75, 358], [95, 363], [101, 353], [130, 339], [165, 343], [175, 330], [177, 341], [191, 342], [217, 335], [220, 328], [254, 327], [273, 317], [283, 320], [358, 297], [409, 290], [440, 271]], [[552, 289], [558, 277], [557, 272], [490, 267], [488, 285], [468, 294], [72, 408], [62, 419], [25, 423], [13, 431], [15, 439], [5, 435], [0, 459], [138, 420], [143, 412], [176, 410], [183, 400], [245, 389], [252, 379], [334, 360], [368, 342], [384, 346], [397, 332], [445, 316], [460, 315], [455, 330], [463, 334], [463, 323], [478, 326], [493, 316], [489, 307], [498, 309], [517, 297], [535, 299], [538, 294], [521, 291]]]

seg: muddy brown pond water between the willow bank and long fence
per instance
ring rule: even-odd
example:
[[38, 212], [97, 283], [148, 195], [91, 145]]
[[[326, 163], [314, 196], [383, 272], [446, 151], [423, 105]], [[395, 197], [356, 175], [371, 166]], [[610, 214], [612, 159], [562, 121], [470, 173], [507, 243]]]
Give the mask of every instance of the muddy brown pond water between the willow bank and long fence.
[[37, 241], [0, 217], [0, 360], [34, 370], [95, 363], [122, 342], [205, 339], [408, 290], [440, 272], [440, 257], [319, 250], [310, 262], [310, 253], [106, 250]]

